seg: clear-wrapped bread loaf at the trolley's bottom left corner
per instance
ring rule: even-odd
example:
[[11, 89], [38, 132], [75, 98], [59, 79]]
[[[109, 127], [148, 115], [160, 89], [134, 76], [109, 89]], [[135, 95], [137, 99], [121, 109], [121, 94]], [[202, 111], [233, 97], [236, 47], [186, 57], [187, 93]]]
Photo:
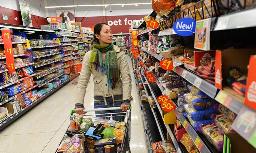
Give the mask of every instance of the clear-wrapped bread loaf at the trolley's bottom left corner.
[[85, 153], [84, 140], [83, 134], [75, 134], [70, 139], [63, 153]]

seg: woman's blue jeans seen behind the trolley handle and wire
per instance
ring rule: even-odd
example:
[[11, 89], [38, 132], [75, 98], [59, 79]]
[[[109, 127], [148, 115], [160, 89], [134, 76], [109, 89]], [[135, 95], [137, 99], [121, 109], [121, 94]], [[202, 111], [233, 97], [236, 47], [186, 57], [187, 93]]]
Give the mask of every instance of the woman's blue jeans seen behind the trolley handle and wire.
[[[105, 105], [104, 101], [94, 101], [94, 108], [120, 107], [122, 104], [122, 101], [121, 100], [115, 101], [115, 106], [113, 106], [113, 104], [114, 103], [112, 100], [107, 101], [107, 105]], [[111, 114], [112, 119], [121, 122], [121, 121], [124, 121], [125, 116], [120, 116], [120, 115], [125, 115], [125, 113], [120, 113], [120, 112], [123, 112], [123, 111], [121, 109], [120, 110], [104, 110], [104, 111], [95, 111], [95, 114], [118, 113], [118, 114]], [[104, 116], [110, 116], [110, 114], [96, 115], [96, 117], [110, 119], [110, 117], [104, 117]]]

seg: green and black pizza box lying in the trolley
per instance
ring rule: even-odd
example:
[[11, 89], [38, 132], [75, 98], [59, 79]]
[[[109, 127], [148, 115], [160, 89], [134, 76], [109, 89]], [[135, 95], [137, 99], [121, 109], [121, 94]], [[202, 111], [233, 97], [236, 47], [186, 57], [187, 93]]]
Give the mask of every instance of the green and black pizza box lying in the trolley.
[[122, 143], [124, 133], [120, 129], [100, 123], [93, 131], [93, 135], [101, 138], [116, 137], [116, 142]]

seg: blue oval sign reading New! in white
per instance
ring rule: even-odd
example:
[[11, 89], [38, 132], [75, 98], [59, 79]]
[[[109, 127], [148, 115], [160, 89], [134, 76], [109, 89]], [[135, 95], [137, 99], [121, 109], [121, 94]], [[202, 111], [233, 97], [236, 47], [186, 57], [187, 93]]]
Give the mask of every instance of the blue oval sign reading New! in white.
[[173, 30], [180, 36], [191, 36], [196, 31], [196, 21], [191, 18], [182, 18], [174, 23]]

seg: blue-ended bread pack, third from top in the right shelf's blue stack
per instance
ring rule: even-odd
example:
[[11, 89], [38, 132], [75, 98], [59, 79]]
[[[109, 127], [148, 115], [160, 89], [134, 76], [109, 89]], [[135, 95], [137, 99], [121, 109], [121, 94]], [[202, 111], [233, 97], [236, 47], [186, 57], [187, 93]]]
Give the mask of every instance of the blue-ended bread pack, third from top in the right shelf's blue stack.
[[216, 113], [215, 109], [209, 109], [209, 110], [195, 110], [192, 106], [189, 104], [184, 105], [184, 109], [186, 112], [191, 116], [191, 119], [193, 121], [201, 121], [206, 119], [211, 119], [210, 114]]

